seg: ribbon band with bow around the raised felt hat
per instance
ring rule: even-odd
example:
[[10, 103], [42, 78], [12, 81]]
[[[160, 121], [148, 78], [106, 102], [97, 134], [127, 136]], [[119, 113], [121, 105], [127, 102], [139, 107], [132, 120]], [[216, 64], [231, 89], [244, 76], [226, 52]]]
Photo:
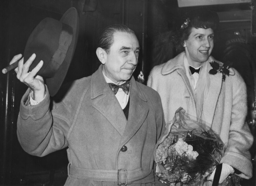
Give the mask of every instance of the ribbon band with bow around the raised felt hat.
[[62, 23], [62, 31], [60, 33], [59, 47], [53, 54], [47, 66], [45, 67], [43, 74], [45, 77], [53, 77], [60, 65], [64, 61], [68, 48], [71, 44], [73, 37], [73, 28], [69, 25]]

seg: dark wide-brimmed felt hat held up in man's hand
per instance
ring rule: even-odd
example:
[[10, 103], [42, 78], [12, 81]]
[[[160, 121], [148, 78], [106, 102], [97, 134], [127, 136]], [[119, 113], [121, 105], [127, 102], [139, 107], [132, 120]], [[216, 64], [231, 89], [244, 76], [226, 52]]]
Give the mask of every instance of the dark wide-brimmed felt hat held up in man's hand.
[[58, 21], [45, 18], [33, 29], [24, 51], [24, 62], [35, 53], [29, 71], [43, 60], [37, 73], [46, 79], [50, 96], [54, 96], [67, 74], [77, 45], [79, 17], [77, 10], [68, 9]]

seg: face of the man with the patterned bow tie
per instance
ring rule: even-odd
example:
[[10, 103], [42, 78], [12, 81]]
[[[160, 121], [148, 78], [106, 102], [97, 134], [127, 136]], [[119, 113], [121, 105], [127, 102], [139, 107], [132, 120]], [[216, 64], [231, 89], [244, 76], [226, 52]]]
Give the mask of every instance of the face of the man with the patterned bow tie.
[[132, 76], [137, 64], [140, 45], [135, 34], [116, 32], [109, 54], [106, 55], [103, 73], [114, 83], [120, 84]]

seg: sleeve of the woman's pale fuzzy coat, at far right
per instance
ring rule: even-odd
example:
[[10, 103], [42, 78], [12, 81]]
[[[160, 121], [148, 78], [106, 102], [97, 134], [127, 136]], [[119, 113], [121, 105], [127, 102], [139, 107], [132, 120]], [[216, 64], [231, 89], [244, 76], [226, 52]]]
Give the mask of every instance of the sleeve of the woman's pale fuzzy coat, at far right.
[[247, 114], [246, 85], [242, 77], [236, 72], [233, 78], [232, 113], [229, 128], [229, 141], [221, 163], [226, 163], [241, 171], [240, 177], [252, 177], [252, 162], [249, 149], [253, 143], [253, 136], [245, 122]]

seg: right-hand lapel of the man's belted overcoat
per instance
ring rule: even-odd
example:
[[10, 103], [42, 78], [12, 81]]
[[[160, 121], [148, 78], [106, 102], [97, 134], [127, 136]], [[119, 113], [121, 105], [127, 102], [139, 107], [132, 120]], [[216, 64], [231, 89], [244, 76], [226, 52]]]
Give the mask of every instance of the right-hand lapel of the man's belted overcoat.
[[145, 121], [149, 108], [146, 104], [147, 99], [142, 93], [139, 86], [137, 86], [134, 77], [130, 80], [130, 106], [129, 116], [124, 130], [120, 148], [127, 143], [134, 134], [139, 130], [143, 122]]

